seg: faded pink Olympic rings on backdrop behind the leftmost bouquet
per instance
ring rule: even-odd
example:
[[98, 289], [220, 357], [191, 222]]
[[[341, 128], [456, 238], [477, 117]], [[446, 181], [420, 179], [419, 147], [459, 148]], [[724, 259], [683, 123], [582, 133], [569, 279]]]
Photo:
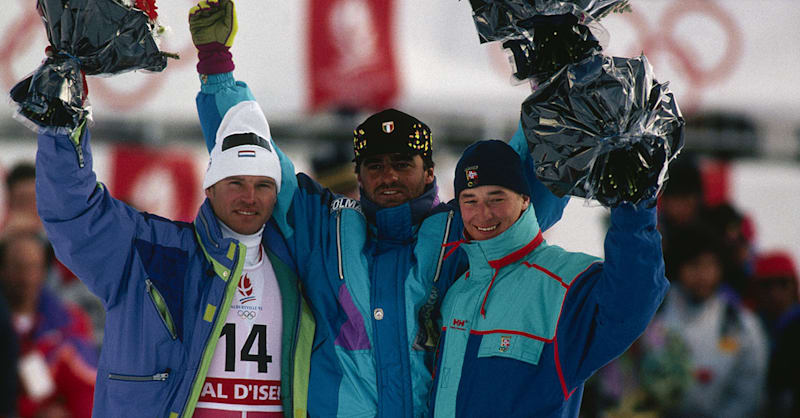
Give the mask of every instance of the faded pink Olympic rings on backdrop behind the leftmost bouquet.
[[[195, 0], [186, 1], [187, 5], [194, 3], [196, 3]], [[160, 7], [160, 13], [163, 8]], [[184, 7], [184, 9], [184, 12], [188, 11], [188, 7]], [[164, 15], [164, 13], [161, 14], [162, 16]], [[26, 74], [34, 70], [34, 68], [29, 68], [25, 70], [25, 73], [16, 71], [14, 63], [20, 57], [24, 56], [32, 48], [38, 48], [41, 51], [42, 58], [44, 58], [47, 37], [42, 26], [41, 16], [39, 16], [36, 8], [25, 7], [22, 15], [8, 25], [8, 29], [3, 33], [2, 39], [5, 40], [5, 45], [0, 47], [0, 82], [8, 90], [22, 80]], [[164, 51], [175, 51], [175, 48], [169, 45], [169, 39], [167, 38], [162, 39], [160, 48]], [[195, 47], [190, 40], [177, 50], [183, 59], [170, 60], [167, 69], [163, 73], [142, 77], [139, 86], [134, 88], [128, 86], [127, 83], [115, 83], [108, 78], [89, 77], [87, 82], [89, 83], [90, 97], [97, 97], [104, 105], [116, 110], [127, 110], [139, 106], [156, 96], [158, 89], [167, 82], [167, 77], [171, 73], [170, 69], [193, 64], [194, 60], [191, 57], [195, 56], [195, 51]], [[123, 87], [123, 89], [120, 87]]]

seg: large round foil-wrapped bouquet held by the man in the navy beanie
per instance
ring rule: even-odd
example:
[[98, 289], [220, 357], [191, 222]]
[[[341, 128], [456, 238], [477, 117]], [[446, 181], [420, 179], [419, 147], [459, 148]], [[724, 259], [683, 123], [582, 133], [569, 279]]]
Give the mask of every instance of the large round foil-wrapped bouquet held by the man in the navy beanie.
[[539, 179], [557, 196], [608, 207], [657, 195], [683, 147], [683, 124], [644, 56], [593, 55], [564, 67], [522, 104]]

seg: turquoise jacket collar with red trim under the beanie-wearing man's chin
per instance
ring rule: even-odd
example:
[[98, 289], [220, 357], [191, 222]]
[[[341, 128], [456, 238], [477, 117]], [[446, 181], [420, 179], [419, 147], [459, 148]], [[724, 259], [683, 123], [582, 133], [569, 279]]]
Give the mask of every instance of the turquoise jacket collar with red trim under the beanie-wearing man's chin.
[[[462, 232], [462, 236], [463, 236]], [[465, 241], [461, 247], [469, 258], [471, 277], [491, 279], [492, 276], [476, 274], [480, 270], [499, 270], [530, 254], [543, 242], [539, 222], [531, 205], [511, 227], [500, 235], [482, 241]]]

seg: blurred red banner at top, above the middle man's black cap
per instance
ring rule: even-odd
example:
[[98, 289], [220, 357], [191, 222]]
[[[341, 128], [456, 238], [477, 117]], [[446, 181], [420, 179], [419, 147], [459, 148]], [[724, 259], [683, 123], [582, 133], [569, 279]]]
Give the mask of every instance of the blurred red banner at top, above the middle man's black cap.
[[312, 110], [389, 106], [398, 91], [393, 0], [311, 0]]

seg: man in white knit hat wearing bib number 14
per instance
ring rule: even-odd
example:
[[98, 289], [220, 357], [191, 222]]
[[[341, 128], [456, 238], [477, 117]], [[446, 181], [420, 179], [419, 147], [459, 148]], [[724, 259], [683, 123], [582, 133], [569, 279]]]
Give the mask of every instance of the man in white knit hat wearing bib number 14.
[[39, 216], [107, 311], [96, 417], [306, 416], [314, 323], [268, 222], [281, 171], [258, 105], [228, 110], [216, 142], [184, 223], [111, 197], [85, 123], [39, 134]]

